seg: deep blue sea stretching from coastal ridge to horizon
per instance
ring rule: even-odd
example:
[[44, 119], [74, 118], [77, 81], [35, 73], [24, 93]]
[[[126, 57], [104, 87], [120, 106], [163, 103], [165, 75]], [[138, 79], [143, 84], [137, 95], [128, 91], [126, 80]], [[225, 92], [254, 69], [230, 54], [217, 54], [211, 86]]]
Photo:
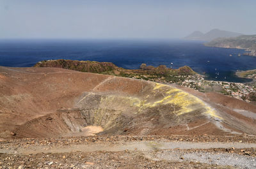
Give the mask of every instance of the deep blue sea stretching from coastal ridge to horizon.
[[243, 55], [244, 50], [205, 47], [203, 43], [184, 40], [0, 40], [0, 66], [29, 67], [48, 59], [106, 61], [127, 69], [138, 69], [141, 63], [165, 64], [172, 68], [187, 65], [206, 75], [208, 80], [228, 82], [246, 82], [248, 80], [236, 77], [234, 72], [256, 69], [256, 57]]

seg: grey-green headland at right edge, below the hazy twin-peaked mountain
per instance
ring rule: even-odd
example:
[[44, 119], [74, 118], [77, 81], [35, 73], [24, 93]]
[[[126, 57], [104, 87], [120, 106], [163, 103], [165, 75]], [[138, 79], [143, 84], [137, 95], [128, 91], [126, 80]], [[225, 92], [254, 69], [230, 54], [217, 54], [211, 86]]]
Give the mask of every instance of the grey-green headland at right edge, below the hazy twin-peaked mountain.
[[256, 56], [256, 34], [241, 35], [233, 38], [217, 38], [208, 43], [205, 43], [205, 46], [221, 48], [241, 48], [249, 51], [244, 55]]

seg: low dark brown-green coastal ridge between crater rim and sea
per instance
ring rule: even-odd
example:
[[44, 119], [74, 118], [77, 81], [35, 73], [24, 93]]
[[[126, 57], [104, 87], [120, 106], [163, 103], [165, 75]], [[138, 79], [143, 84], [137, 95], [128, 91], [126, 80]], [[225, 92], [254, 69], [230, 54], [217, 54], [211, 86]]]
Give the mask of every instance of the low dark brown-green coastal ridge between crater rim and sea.
[[[65, 59], [40, 61], [35, 64], [34, 67], [50, 67], [50, 68], [64, 68], [68, 70], [76, 70], [90, 73], [101, 73], [104, 75], [115, 75], [121, 77], [150, 77], [170, 78], [172, 75], [195, 75], [189, 66], [183, 66], [179, 69], [167, 68], [165, 65], [157, 67], [147, 66], [147, 64], [141, 64], [138, 70], [127, 70], [120, 68], [112, 62], [96, 62], [96, 61], [72, 61]], [[147, 80], [147, 79], [145, 79]]]

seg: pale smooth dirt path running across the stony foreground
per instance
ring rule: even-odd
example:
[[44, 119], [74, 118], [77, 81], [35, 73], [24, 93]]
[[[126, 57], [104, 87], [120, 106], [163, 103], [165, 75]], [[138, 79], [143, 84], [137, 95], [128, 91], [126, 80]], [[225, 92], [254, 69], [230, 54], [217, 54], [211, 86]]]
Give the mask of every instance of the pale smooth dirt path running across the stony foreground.
[[48, 145], [31, 145], [28, 148], [0, 149], [0, 153], [8, 154], [38, 154], [38, 153], [69, 153], [69, 152], [96, 152], [96, 151], [160, 151], [172, 149], [234, 149], [256, 148], [256, 143], [200, 143], [200, 142], [117, 142], [117, 143], [90, 143], [78, 145], [58, 145], [50, 147]]

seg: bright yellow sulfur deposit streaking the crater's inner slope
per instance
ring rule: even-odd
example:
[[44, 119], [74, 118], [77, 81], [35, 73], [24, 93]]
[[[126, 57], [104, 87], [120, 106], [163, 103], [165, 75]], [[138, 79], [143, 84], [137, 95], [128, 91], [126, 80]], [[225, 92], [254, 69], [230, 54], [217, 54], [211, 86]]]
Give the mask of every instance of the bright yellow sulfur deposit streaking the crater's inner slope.
[[[154, 101], [149, 100], [159, 93], [161, 93], [161, 99]], [[215, 110], [207, 106], [204, 101], [188, 94], [187, 92], [181, 91], [180, 89], [164, 84], [155, 84], [154, 89], [150, 91], [150, 94], [143, 98], [111, 95], [102, 97], [100, 100], [100, 107], [111, 106], [111, 108], [115, 107], [116, 110], [132, 108], [132, 110], [134, 110], [133, 114], [143, 112], [146, 108], [154, 108], [168, 104], [170, 104], [170, 106], [176, 105], [179, 107], [179, 110], [174, 110], [174, 112], [170, 112], [170, 114], [183, 115], [196, 111], [200, 114], [221, 119], [220, 116], [216, 115]]]

